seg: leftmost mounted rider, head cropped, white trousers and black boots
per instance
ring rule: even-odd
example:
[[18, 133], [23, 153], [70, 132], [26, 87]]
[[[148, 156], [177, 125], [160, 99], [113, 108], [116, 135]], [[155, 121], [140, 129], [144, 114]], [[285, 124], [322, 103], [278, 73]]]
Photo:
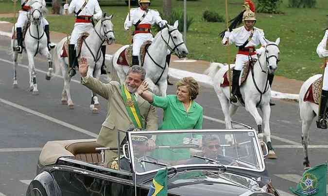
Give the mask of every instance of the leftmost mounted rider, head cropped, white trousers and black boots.
[[[26, 22], [29, 20], [29, 11], [31, 7], [28, 5], [29, 0], [21, 0], [21, 7], [22, 9], [19, 10], [19, 15], [17, 18], [16, 23], [16, 32], [17, 32], [17, 46], [14, 48], [15, 51], [18, 53], [23, 52], [23, 27], [25, 26]], [[46, 7], [46, 1], [41, 0], [42, 6]], [[51, 49], [51, 42], [50, 42], [50, 34], [49, 34], [49, 22], [45, 17], [42, 17], [41, 23], [43, 24], [44, 32], [47, 35], [47, 42], [48, 42], [48, 49]]]

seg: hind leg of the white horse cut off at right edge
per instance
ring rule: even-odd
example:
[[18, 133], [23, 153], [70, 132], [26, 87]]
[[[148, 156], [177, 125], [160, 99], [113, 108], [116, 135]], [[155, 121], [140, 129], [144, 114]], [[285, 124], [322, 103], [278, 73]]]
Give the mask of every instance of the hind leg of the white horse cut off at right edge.
[[311, 168], [311, 164], [309, 161], [309, 154], [308, 154], [308, 145], [310, 144], [310, 126], [315, 117], [315, 114], [311, 108], [311, 106], [307, 103], [299, 103], [300, 108], [300, 118], [302, 121], [302, 145], [303, 145], [303, 152], [304, 152], [304, 161], [303, 166], [304, 170]]

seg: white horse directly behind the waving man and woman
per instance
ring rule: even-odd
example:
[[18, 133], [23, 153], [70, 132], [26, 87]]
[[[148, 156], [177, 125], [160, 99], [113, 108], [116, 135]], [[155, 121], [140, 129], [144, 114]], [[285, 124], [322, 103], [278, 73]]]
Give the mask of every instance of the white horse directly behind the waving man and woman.
[[[171, 52], [174, 52], [179, 58], [184, 58], [189, 53], [183, 41], [182, 34], [178, 30], [178, 25], [179, 22], [175, 21], [173, 26], [167, 25], [167, 28], [160, 30], [146, 52], [143, 67], [147, 71], [146, 77], [148, 84], [157, 95], [166, 96], [166, 80], [169, 72], [166, 66], [167, 50], [171, 50]], [[120, 78], [121, 84], [124, 83], [129, 66], [119, 65], [117, 64], [117, 60], [121, 52], [128, 46], [129, 45], [124, 45], [116, 51], [111, 61]], [[141, 61], [139, 60], [139, 62]]]

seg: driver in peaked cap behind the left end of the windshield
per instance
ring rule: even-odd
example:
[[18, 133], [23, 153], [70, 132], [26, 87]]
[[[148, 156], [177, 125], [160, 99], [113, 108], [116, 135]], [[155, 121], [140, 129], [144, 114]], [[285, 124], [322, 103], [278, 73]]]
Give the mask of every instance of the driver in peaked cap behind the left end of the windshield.
[[[136, 171], [138, 172], [153, 170], [157, 168], [155, 165], [152, 166], [151, 164], [147, 164], [142, 161], [142, 160], [149, 160], [149, 157], [147, 156], [147, 152], [150, 151], [150, 149], [152, 149], [149, 148], [149, 143], [148, 143], [149, 140], [152, 139], [147, 138], [146, 136], [131, 136], [133, 152], [135, 156], [135, 166], [136, 166]], [[154, 160], [149, 160], [149, 161], [154, 161]], [[119, 168], [118, 158], [116, 158], [115, 161], [112, 162], [110, 168], [112, 169]], [[125, 158], [124, 155], [121, 156], [121, 169], [131, 172], [131, 166], [129, 160]]]

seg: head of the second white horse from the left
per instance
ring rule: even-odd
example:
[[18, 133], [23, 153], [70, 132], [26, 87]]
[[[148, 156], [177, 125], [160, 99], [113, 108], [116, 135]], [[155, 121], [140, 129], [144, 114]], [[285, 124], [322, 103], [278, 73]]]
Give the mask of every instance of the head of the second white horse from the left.
[[113, 30], [114, 25], [111, 21], [112, 17], [113, 15], [108, 17], [106, 13], [104, 13], [102, 19], [98, 22], [100, 23], [100, 36], [104, 38], [104, 41], [106, 41], [108, 45], [111, 45], [116, 40]]

